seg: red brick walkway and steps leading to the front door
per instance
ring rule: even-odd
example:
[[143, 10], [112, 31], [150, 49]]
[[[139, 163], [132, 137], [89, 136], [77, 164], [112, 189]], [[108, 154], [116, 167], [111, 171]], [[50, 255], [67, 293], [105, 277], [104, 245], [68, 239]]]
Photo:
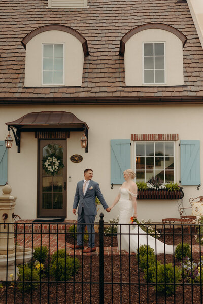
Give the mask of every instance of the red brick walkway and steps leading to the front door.
[[[25, 246], [28, 248], [33, 248], [36, 246], [45, 245], [50, 248], [50, 254], [53, 254], [57, 249], [65, 249], [67, 250], [67, 254], [74, 255], [74, 250], [69, 248], [69, 243], [65, 242], [65, 232], [67, 231], [67, 227], [74, 223], [75, 221], [64, 221], [61, 224], [43, 224], [41, 228], [41, 224], [31, 224], [26, 221], [18, 221], [17, 226], [17, 242], [18, 245]], [[21, 224], [22, 223], [22, 224]], [[26, 223], [24, 225], [24, 223]], [[50, 228], [49, 228], [50, 225]], [[25, 229], [25, 233], [24, 233]], [[42, 235], [40, 234], [42, 230]], [[50, 234], [49, 234], [50, 231]], [[33, 232], [33, 234], [32, 234]], [[32, 236], [33, 235], [33, 236]], [[32, 240], [33, 238], [33, 240]], [[58, 244], [58, 245], [57, 245]], [[86, 249], [87, 247], [85, 247]], [[192, 245], [192, 252], [199, 252], [199, 245]], [[203, 253], [203, 246], [201, 246], [201, 252]], [[84, 255], [99, 255], [99, 247], [96, 247], [96, 251], [92, 253], [84, 253]], [[104, 255], [128, 255], [128, 253], [124, 250], [121, 252], [118, 251], [118, 247], [104, 247]], [[135, 253], [132, 252], [131, 255]], [[82, 250], [75, 250], [75, 255], [82, 255]]]

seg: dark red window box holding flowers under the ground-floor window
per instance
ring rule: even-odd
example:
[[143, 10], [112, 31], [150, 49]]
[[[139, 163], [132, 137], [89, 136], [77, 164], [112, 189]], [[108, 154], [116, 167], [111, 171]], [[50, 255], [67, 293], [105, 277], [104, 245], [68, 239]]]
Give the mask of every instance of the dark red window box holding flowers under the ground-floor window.
[[167, 190], [139, 190], [137, 199], [145, 199], [145, 200], [159, 200], [159, 199], [182, 199], [184, 193], [179, 191], [167, 191]]

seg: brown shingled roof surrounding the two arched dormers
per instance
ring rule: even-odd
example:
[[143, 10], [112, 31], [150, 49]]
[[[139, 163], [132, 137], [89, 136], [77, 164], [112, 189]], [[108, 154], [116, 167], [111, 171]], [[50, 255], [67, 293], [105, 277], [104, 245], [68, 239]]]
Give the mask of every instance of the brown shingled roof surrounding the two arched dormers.
[[[88, 0], [89, 7], [80, 9], [50, 9], [47, 3], [0, 1], [1, 103], [203, 100], [203, 49], [186, 2]], [[120, 40], [134, 27], [150, 22], [171, 25], [187, 37], [183, 86], [125, 86]], [[49, 24], [69, 26], [87, 40], [90, 55], [84, 59], [82, 87], [24, 87], [25, 49], [21, 41], [32, 30]]]

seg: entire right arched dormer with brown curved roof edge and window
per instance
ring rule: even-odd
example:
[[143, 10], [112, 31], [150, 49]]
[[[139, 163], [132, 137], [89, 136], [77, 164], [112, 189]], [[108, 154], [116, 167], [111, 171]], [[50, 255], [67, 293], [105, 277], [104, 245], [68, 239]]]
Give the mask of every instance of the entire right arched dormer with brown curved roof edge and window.
[[126, 86], [182, 86], [186, 41], [179, 30], [162, 23], [130, 30], [120, 43]]

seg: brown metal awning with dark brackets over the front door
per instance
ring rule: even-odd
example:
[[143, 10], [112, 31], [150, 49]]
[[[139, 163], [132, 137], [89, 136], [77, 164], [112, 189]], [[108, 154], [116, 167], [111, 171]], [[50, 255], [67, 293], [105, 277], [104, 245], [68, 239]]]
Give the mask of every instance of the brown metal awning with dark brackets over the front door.
[[[65, 111], [43, 111], [28, 113], [13, 122], [6, 123], [12, 130], [18, 152], [20, 152], [20, 133], [35, 131], [84, 131], [88, 137], [88, 125], [73, 113]], [[16, 129], [16, 133], [14, 129]], [[87, 149], [86, 149], [87, 152]]]

